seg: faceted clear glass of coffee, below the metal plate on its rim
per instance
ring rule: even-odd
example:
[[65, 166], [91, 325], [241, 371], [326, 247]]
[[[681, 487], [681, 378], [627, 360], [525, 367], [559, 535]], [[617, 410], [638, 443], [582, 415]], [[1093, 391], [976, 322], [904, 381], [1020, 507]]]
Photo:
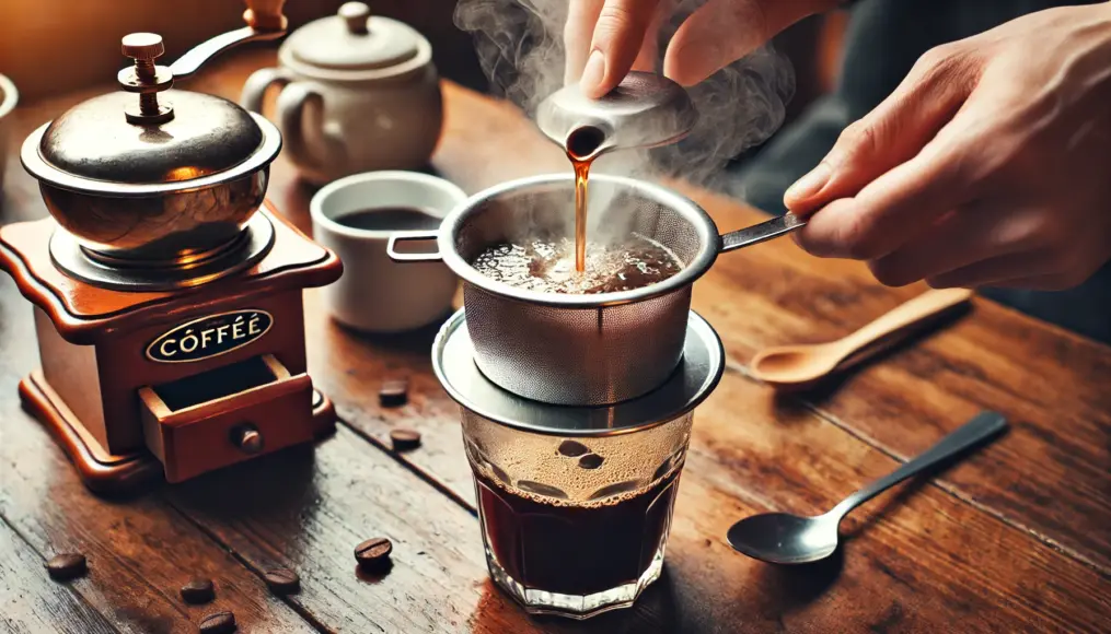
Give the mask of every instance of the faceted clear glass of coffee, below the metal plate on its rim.
[[464, 413], [494, 581], [538, 613], [631, 604], [663, 568], [691, 420], [577, 440]]

